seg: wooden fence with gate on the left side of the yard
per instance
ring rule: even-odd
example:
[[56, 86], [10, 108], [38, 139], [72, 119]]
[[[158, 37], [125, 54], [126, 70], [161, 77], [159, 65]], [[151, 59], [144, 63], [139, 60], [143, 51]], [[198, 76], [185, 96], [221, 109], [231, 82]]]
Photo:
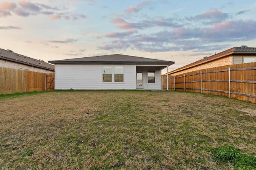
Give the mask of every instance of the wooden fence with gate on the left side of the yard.
[[54, 73], [0, 67], [0, 94], [54, 90]]

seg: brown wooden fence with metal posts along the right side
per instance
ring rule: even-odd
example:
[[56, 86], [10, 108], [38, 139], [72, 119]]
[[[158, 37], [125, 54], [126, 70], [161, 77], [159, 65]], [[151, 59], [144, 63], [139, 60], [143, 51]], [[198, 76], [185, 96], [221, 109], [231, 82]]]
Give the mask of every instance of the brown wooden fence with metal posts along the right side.
[[[168, 76], [169, 90], [222, 95], [256, 103], [256, 63], [234, 64]], [[166, 90], [166, 76], [162, 89]]]

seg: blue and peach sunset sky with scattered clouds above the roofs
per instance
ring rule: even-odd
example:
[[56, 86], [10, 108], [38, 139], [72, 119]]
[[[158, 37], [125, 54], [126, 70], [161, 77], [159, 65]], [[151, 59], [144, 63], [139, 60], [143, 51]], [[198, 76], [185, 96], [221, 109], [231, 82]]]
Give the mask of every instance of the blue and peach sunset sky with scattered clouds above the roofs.
[[256, 0], [0, 0], [0, 48], [44, 61], [123, 54], [175, 70], [256, 47]]

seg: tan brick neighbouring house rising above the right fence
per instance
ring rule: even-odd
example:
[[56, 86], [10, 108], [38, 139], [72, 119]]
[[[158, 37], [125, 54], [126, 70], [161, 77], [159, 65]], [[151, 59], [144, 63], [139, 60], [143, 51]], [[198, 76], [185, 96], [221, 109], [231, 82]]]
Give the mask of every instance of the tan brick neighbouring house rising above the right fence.
[[[169, 75], [176, 76], [186, 72], [213, 68], [230, 64], [242, 64], [256, 62], [255, 47], [233, 47], [218, 54], [206, 57], [194, 63], [188, 64], [176, 70], [169, 72]], [[165, 74], [166, 75], [166, 74]]]

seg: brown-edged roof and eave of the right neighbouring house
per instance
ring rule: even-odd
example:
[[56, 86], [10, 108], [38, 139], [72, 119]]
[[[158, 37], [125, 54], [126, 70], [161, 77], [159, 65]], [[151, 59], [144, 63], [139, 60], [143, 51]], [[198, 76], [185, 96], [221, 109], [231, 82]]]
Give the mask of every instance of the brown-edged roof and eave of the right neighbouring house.
[[213, 60], [217, 60], [217, 59], [220, 59], [222, 57], [226, 57], [228, 55], [239, 55], [239, 54], [247, 54], [247, 55], [255, 55], [256, 54], [256, 47], [233, 47], [231, 49], [228, 49], [228, 50], [225, 50], [225, 51], [222, 51], [220, 53], [217, 53], [215, 55], [211, 55], [210, 57], [206, 57], [202, 60], [198, 60], [194, 63], [190, 63], [186, 66], [183, 66], [181, 68], [178, 68], [176, 70], [173, 70], [172, 72], [169, 72], [170, 73], [174, 73], [174, 72], [178, 72], [178, 71], [181, 71], [181, 70], [185, 70], [187, 68], [191, 68], [193, 66], [197, 66], [197, 65], [200, 65], [200, 64], [204, 64], [204, 63], [207, 63], [207, 62], [210, 62], [210, 61], [213, 61]]

